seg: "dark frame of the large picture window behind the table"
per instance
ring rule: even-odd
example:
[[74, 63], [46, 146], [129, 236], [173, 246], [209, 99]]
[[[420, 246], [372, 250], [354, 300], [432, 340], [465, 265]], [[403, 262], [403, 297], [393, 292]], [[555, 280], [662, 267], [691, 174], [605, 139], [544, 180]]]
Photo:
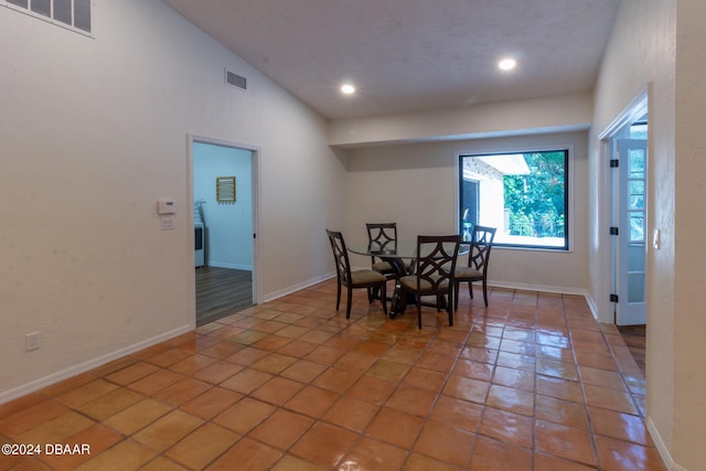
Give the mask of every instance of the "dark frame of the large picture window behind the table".
[[[564, 244], [560, 246], [547, 246], [547, 245], [538, 245], [538, 244], [514, 244], [506, 242], [499, 242], [498, 237], [493, 243], [494, 247], [507, 248], [507, 249], [518, 249], [518, 250], [538, 250], [538, 251], [552, 251], [552, 253], [570, 253], [573, 251], [573, 227], [574, 227], [574, 214], [571, 211], [573, 202], [574, 202], [574, 147], [570, 144], [561, 144], [561, 146], [548, 146], [548, 147], [530, 147], [530, 148], [517, 148], [511, 150], [473, 150], [468, 152], [460, 152], [457, 154], [458, 160], [458, 178], [456, 183], [456, 193], [457, 193], [457, 229], [459, 234], [463, 234], [463, 218], [462, 218], [462, 197], [463, 197], [463, 160], [466, 158], [479, 158], [479, 157], [492, 157], [492, 156], [507, 156], [507, 154], [528, 154], [528, 153], [548, 153], [548, 152], [564, 152]], [[469, 180], [471, 181], [471, 180]], [[504, 183], [503, 183], [504, 188]], [[478, 217], [481, 218], [481, 212], [479, 208]], [[483, 225], [483, 223], [479, 223]], [[488, 225], [488, 224], [485, 224]]]

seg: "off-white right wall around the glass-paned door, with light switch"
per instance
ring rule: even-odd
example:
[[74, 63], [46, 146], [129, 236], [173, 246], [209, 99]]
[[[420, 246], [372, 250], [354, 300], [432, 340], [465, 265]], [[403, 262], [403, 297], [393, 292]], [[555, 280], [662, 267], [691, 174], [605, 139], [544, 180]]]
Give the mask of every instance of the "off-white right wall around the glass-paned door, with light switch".
[[[623, 0], [596, 88], [589, 151], [590, 211], [598, 215], [607, 207], [608, 178], [597, 137], [649, 87], [648, 233], [659, 228], [662, 244], [648, 251], [648, 424], [671, 469], [688, 470], [703, 468], [706, 421], [706, 253], [698, 236], [705, 229], [699, 217], [706, 173], [704, 18], [700, 0]], [[607, 295], [600, 267], [610, 260], [603, 226], [591, 234], [590, 257], [597, 260], [591, 296], [597, 300]]]

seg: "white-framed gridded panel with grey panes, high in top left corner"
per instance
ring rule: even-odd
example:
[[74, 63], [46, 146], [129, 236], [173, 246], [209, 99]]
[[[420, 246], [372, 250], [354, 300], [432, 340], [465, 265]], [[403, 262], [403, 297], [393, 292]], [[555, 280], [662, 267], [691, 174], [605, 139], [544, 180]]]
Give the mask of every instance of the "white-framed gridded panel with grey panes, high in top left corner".
[[18, 11], [41, 18], [69, 30], [90, 33], [92, 0], [0, 0]]

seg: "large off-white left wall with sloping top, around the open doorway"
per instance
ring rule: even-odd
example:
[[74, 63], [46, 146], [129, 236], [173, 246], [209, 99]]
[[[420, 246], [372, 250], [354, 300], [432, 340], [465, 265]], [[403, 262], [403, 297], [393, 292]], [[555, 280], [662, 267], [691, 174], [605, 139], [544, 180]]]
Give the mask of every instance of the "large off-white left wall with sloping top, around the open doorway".
[[332, 271], [327, 121], [159, 1], [99, 2], [94, 25], [0, 8], [0, 402], [194, 327], [189, 133], [260, 150], [260, 300]]

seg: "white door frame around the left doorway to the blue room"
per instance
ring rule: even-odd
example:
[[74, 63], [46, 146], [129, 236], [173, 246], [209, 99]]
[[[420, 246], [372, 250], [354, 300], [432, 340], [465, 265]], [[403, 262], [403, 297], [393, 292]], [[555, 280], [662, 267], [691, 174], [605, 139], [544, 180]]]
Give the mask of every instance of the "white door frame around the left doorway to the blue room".
[[[186, 162], [186, 189], [188, 189], [188, 201], [190, 204], [193, 204], [194, 201], [194, 156], [193, 156], [193, 144], [194, 142], [205, 143], [210, 146], [220, 146], [227, 147], [232, 149], [246, 150], [250, 152], [252, 156], [252, 184], [253, 184], [253, 207], [252, 207], [252, 217], [253, 217], [253, 303], [259, 304], [263, 299], [263, 295], [260, 292], [260, 283], [259, 283], [259, 274], [260, 274], [260, 257], [259, 257], [259, 238], [257, 234], [259, 234], [259, 221], [260, 221], [260, 171], [259, 171], [259, 160], [260, 160], [260, 147], [227, 141], [223, 139], [208, 138], [196, 135], [186, 135], [186, 147], [188, 147], [188, 162]], [[189, 218], [188, 224], [189, 227], [194, 225], [194, 212], [186, 211], [186, 217]], [[195, 271], [193, 269], [193, 247], [194, 247], [194, 232], [189, 231], [188, 237], [188, 250], [189, 254], [189, 289], [186, 292], [190, 293], [190, 320], [194, 323], [196, 322], [196, 278]]]

